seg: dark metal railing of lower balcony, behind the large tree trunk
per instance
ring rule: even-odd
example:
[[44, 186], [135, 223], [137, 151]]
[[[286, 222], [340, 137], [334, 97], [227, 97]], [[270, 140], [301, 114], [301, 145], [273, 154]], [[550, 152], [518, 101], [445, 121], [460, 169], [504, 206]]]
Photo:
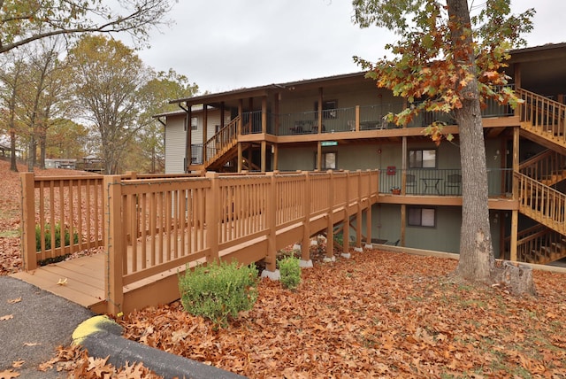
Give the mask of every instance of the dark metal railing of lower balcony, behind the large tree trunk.
[[[433, 169], [389, 167], [379, 172], [379, 193], [402, 193], [403, 176], [406, 195], [462, 196], [462, 170], [459, 168]], [[509, 197], [513, 170], [487, 169], [489, 197]]]

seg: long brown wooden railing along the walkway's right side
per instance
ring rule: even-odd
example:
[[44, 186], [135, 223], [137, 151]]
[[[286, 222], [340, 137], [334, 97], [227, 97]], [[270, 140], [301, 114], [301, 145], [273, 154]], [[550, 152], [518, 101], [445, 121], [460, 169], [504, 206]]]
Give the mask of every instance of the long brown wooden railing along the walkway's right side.
[[[289, 244], [289, 236], [279, 233], [292, 229], [294, 241], [302, 240], [321, 228], [311, 222], [321, 215], [332, 229], [339, 210], [344, 210], [340, 217], [349, 218], [351, 207], [355, 212], [371, 207], [378, 183], [378, 171], [128, 181], [105, 176], [109, 312], [119, 312], [123, 286], [183, 265], [266, 259], [274, 271], [276, 249]], [[238, 252], [245, 251], [238, 246], [253, 244], [258, 248]]]

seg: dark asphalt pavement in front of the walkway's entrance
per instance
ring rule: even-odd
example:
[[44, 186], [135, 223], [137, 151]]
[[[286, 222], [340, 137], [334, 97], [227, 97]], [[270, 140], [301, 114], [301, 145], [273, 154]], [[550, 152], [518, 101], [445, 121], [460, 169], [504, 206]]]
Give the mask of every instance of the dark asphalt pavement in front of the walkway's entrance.
[[38, 371], [57, 346], [72, 342], [74, 329], [93, 316], [87, 308], [10, 276], [0, 276], [0, 373], [14, 362], [22, 378], [59, 378], [66, 373]]

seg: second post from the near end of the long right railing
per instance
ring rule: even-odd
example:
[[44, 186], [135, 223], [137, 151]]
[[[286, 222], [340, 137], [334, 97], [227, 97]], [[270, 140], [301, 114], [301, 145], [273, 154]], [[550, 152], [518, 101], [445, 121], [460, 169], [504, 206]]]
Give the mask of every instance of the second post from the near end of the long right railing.
[[206, 263], [212, 263], [219, 259], [218, 254], [218, 205], [226, 206], [220, 197], [220, 183], [218, 173], [208, 172], [206, 177], [210, 179], [210, 190], [205, 194], [205, 220], [206, 220], [206, 239], [210, 249], [210, 253], [206, 255]]

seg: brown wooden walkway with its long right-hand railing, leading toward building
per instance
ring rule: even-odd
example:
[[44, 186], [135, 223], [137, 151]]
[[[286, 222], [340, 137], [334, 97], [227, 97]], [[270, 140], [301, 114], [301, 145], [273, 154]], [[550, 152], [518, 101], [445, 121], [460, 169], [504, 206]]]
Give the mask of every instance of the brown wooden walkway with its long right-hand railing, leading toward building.
[[[34, 245], [34, 202], [42, 189], [34, 193], [33, 178], [29, 182], [25, 199], [31, 213], [23, 252], [25, 262], [37, 264], [47, 255]], [[49, 187], [56, 187], [55, 182]], [[310, 238], [321, 232], [328, 235], [327, 255], [332, 256], [334, 226], [349, 225], [354, 215], [352, 228], [361, 245], [363, 213], [370, 220], [366, 236], [371, 237], [379, 172], [212, 173], [203, 178], [135, 180], [107, 176], [102, 188], [103, 252], [44, 267], [28, 265], [27, 271], [12, 276], [95, 313], [119, 314], [180, 298], [178, 274], [187, 265], [216, 259], [249, 265], [264, 259], [273, 272], [277, 251], [291, 244], [301, 243], [301, 258], [309, 260]], [[343, 228], [344, 238], [349, 239], [349, 229]]]

